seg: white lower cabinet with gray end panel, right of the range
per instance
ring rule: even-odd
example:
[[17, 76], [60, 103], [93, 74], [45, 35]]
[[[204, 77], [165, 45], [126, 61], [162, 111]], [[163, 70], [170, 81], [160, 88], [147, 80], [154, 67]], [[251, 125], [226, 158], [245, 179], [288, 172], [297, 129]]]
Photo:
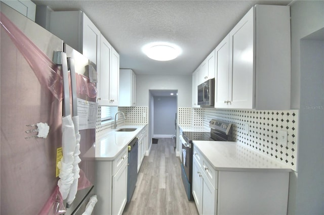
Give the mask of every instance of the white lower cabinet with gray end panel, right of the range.
[[211, 167], [194, 146], [192, 195], [199, 214], [287, 214], [289, 172]]

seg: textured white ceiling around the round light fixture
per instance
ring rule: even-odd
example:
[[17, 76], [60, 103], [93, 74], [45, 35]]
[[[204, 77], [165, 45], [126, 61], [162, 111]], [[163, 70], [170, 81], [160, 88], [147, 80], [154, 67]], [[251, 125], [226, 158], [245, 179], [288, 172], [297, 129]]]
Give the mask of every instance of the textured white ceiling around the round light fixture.
[[[291, 1], [33, 1], [54, 11], [82, 10], [120, 55], [120, 68], [136, 74], [189, 75], [255, 4]], [[178, 44], [177, 59], [148, 59], [154, 41]]]

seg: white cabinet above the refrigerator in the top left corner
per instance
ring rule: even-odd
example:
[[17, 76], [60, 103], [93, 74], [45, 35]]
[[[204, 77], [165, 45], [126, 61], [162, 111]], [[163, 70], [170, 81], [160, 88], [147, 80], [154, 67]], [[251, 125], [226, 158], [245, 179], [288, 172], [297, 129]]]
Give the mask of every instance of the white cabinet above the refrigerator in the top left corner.
[[2, 0], [1, 2], [35, 22], [36, 5], [30, 0]]

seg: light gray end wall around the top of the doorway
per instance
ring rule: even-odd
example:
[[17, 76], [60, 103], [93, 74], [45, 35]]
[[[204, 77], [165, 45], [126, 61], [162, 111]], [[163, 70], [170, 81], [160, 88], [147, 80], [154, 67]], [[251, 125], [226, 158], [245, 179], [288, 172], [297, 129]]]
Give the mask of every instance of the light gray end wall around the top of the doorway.
[[150, 89], [177, 89], [178, 107], [191, 108], [191, 79], [191, 75], [136, 75], [136, 105], [149, 105]]

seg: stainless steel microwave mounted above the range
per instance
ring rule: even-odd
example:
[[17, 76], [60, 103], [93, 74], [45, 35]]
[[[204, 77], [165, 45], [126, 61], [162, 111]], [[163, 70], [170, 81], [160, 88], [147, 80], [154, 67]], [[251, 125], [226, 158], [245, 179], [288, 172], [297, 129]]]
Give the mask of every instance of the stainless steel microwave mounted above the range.
[[215, 78], [198, 85], [198, 105], [214, 106]]

